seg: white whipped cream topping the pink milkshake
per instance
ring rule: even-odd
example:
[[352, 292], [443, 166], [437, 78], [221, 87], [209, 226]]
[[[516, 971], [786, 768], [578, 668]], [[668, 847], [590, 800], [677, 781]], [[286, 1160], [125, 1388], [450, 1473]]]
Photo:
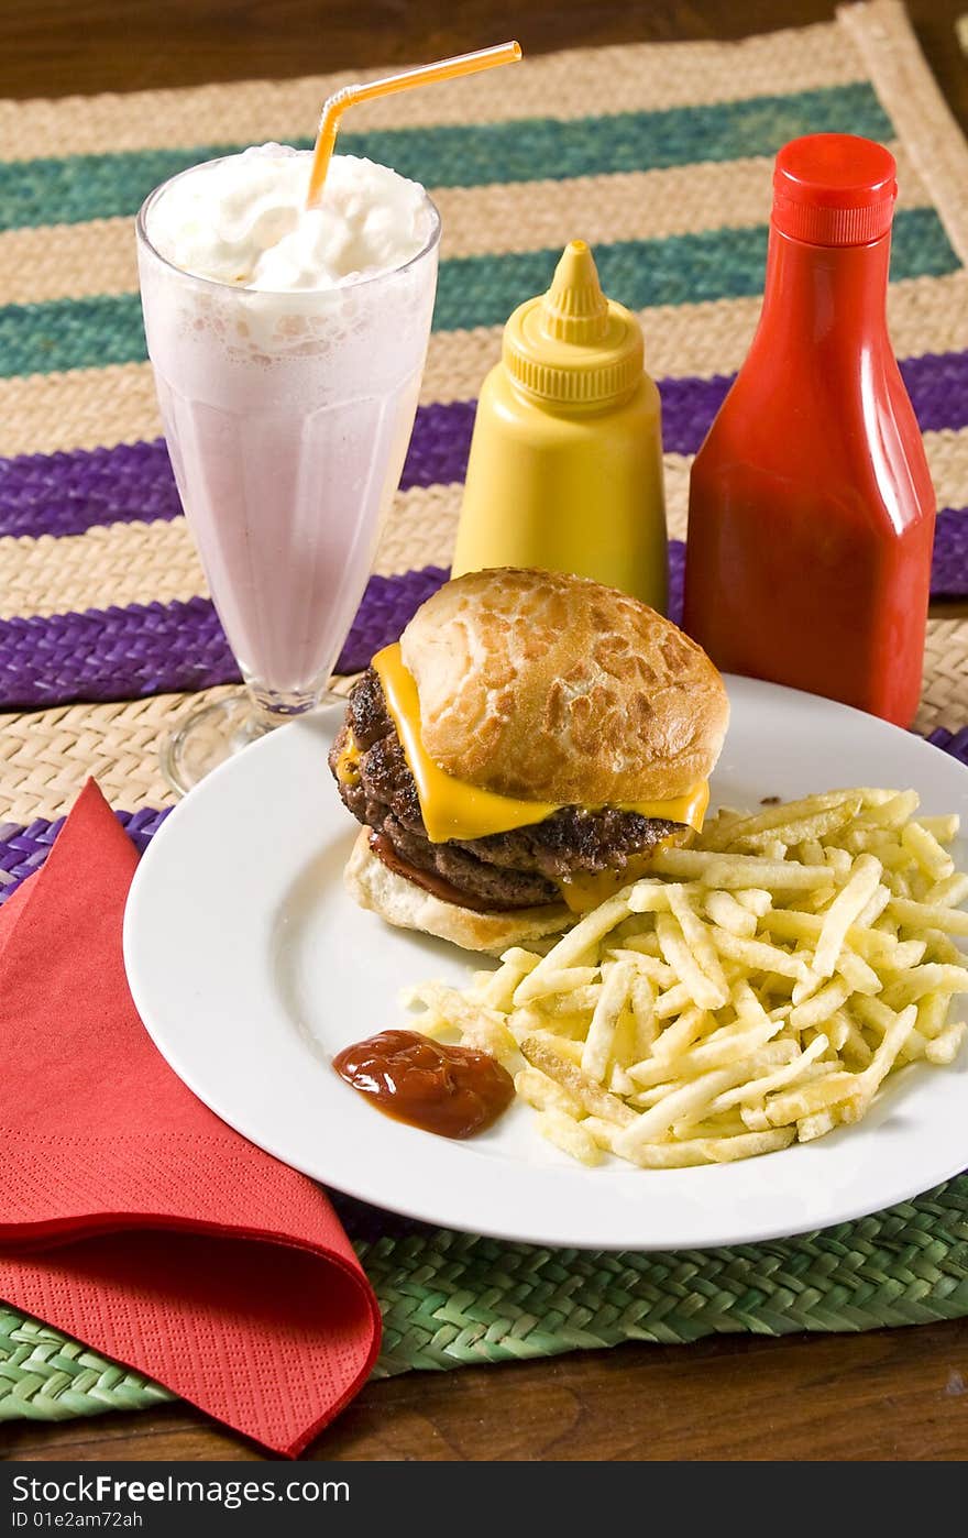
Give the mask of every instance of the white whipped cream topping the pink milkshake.
[[311, 151], [259, 145], [197, 166], [154, 201], [148, 238], [183, 272], [274, 294], [340, 288], [423, 251], [432, 214], [417, 181], [334, 155], [322, 206], [306, 209], [311, 163]]

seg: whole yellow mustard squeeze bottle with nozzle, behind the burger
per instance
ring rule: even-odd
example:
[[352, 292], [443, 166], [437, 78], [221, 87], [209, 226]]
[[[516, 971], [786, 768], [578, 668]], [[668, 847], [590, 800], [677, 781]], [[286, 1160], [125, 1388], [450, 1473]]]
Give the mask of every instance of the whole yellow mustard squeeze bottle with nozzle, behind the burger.
[[659, 391], [642, 328], [572, 240], [505, 326], [474, 421], [454, 577], [539, 566], [666, 608]]

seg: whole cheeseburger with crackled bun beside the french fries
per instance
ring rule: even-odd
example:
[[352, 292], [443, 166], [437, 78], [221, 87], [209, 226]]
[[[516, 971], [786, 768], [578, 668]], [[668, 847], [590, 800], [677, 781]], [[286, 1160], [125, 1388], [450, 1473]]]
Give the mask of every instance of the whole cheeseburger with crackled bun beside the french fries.
[[329, 754], [355, 900], [469, 950], [566, 927], [702, 827], [729, 704], [706, 654], [611, 588], [471, 572], [349, 695]]

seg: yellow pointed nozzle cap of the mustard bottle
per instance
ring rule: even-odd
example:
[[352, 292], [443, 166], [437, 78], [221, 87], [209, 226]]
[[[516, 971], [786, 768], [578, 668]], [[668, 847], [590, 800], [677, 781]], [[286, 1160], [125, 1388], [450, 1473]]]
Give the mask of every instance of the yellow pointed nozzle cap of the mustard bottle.
[[519, 305], [505, 326], [505, 368], [548, 403], [603, 406], [628, 395], [643, 360], [642, 328], [605, 297], [583, 240], [568, 241], [548, 292]]

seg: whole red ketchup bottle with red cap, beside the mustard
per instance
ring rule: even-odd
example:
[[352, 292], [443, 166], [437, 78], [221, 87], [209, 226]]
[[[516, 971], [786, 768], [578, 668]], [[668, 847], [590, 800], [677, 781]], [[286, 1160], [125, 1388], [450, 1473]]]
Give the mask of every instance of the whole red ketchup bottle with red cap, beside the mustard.
[[934, 491], [885, 317], [894, 174], [848, 134], [777, 155], [760, 323], [693, 464], [685, 629], [723, 672], [910, 726]]

